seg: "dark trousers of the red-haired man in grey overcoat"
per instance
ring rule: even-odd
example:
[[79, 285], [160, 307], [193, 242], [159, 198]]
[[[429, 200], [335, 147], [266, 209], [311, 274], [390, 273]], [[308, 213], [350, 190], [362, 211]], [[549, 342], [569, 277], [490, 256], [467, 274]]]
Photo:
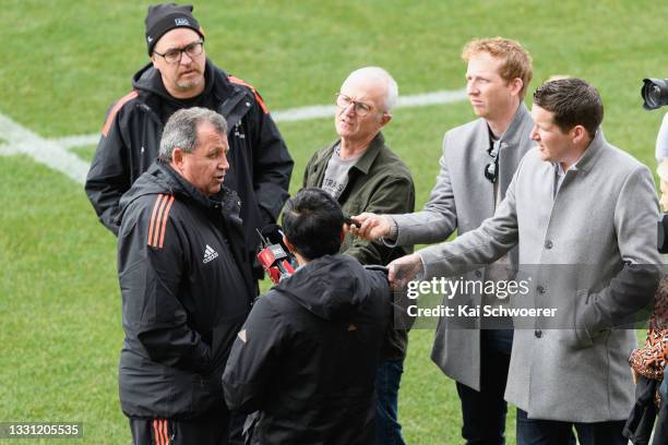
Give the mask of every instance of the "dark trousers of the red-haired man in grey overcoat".
[[[510, 350], [501, 351], [481, 339], [480, 390], [456, 383], [462, 401], [462, 437], [467, 445], [505, 444], [505, 414], [508, 406], [503, 399]], [[503, 348], [505, 349], [505, 348]]]

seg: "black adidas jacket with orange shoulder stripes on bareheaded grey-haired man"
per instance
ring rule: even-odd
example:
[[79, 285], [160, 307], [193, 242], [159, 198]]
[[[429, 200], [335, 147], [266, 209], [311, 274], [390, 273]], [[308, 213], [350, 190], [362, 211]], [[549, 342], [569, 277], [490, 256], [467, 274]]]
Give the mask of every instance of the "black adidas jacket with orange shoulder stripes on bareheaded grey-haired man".
[[160, 161], [122, 196], [127, 416], [191, 419], [226, 409], [220, 377], [254, 289], [238, 206], [235, 192], [208, 199]]

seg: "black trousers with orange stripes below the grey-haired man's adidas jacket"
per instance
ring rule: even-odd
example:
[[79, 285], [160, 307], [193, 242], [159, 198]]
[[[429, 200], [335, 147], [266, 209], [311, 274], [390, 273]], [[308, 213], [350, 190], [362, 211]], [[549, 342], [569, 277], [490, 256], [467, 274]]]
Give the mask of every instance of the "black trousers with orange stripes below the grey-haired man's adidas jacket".
[[130, 431], [133, 445], [227, 445], [229, 414], [188, 421], [130, 419]]

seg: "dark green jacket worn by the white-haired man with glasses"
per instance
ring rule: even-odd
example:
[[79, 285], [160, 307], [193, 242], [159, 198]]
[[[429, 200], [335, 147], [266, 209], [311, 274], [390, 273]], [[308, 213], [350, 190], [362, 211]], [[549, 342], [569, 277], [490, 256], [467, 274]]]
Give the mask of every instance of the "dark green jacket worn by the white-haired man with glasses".
[[[319, 149], [307, 164], [303, 187], [322, 185], [327, 163], [338, 140]], [[362, 212], [406, 214], [415, 209], [415, 187], [408, 167], [385, 145], [382, 133], [371, 141], [359, 160], [348, 171], [348, 183], [338, 197], [344, 215]], [[356, 257], [361, 264], [386, 265], [413, 252], [413, 245], [390, 248], [381, 241], [365, 241], [346, 234], [341, 252]], [[392, 329], [383, 347], [383, 360], [406, 357], [406, 330]]]

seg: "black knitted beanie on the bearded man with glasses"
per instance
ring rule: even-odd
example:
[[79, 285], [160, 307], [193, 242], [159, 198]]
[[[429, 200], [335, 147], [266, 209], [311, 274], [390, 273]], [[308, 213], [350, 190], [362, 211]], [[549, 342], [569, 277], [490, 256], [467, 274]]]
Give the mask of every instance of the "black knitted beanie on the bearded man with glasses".
[[148, 56], [153, 53], [155, 44], [170, 29], [175, 27], [189, 27], [195, 31], [202, 39], [204, 34], [200, 24], [192, 16], [192, 4], [178, 5], [176, 3], [152, 4], [148, 7], [146, 19], [146, 46]]

